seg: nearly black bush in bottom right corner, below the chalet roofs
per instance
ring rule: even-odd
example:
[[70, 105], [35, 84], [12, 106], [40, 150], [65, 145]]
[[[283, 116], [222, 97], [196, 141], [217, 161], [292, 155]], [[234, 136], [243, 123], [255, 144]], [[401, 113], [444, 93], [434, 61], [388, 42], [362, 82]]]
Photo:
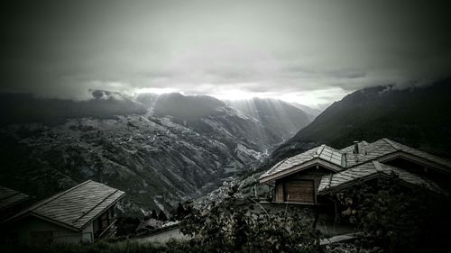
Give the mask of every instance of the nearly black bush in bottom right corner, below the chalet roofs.
[[336, 200], [342, 217], [387, 251], [410, 252], [428, 244], [440, 248], [447, 242], [449, 199], [426, 187], [402, 186], [396, 175], [350, 187]]

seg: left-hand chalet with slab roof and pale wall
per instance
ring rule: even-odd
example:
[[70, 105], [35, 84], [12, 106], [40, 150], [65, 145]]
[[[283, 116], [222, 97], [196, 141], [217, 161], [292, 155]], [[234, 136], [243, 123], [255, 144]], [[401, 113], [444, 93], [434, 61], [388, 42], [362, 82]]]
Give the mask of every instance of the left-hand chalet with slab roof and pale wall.
[[2, 239], [44, 244], [92, 242], [114, 229], [124, 192], [91, 180], [33, 204], [2, 221]]

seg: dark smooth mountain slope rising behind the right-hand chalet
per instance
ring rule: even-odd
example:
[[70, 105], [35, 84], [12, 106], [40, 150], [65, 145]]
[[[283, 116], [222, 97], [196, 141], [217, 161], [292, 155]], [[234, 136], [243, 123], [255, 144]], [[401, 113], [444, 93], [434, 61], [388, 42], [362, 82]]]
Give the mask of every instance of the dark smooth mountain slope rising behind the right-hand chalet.
[[318, 144], [344, 148], [383, 137], [451, 158], [451, 78], [428, 86], [376, 86], [346, 95], [274, 150], [271, 161]]

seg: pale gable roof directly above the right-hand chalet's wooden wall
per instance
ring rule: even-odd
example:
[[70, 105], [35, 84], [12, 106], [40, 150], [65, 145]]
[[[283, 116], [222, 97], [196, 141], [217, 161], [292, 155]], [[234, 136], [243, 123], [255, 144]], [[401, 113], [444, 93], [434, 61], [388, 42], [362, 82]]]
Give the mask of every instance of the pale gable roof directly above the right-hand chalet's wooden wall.
[[299, 155], [285, 158], [284, 160], [273, 166], [270, 170], [266, 171], [262, 176], [260, 176], [260, 180], [268, 176], [282, 173], [292, 167], [301, 166], [308, 161], [312, 161], [317, 158], [326, 161], [327, 163], [335, 167], [345, 167], [345, 160], [339, 150], [328, 147], [327, 145], [321, 145], [317, 148], [309, 149], [308, 151], [305, 151]]

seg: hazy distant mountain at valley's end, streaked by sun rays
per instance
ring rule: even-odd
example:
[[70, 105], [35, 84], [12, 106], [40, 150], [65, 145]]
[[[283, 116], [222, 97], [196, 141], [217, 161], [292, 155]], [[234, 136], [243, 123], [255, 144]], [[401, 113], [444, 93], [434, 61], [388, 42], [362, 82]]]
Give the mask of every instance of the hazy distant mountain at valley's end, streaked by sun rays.
[[240, 113], [250, 115], [262, 122], [266, 127], [276, 132], [283, 141], [290, 139], [299, 129], [308, 125], [318, 115], [307, 113], [306, 110], [299, 109], [293, 104], [271, 98], [254, 97], [249, 100], [228, 100], [226, 104]]

